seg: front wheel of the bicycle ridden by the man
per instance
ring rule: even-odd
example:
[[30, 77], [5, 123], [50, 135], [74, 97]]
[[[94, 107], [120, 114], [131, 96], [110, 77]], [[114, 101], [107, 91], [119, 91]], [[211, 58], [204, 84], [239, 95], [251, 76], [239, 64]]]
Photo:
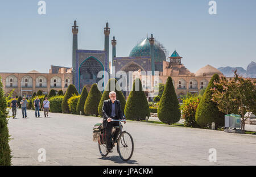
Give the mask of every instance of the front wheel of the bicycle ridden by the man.
[[123, 161], [128, 161], [133, 155], [134, 144], [130, 133], [122, 132], [117, 141], [117, 151]]

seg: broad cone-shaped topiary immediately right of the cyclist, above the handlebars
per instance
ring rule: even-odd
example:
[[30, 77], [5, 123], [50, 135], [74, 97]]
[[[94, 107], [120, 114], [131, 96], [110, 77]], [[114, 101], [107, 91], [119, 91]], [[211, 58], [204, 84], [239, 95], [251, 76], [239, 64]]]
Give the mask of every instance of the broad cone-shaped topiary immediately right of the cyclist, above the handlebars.
[[[139, 84], [138, 91], [135, 90], [136, 85]], [[141, 80], [135, 79], [133, 82], [133, 90], [131, 90], [127, 102], [125, 104], [125, 116], [130, 120], [145, 120], [146, 116], [150, 116], [150, 108], [143, 91]]]

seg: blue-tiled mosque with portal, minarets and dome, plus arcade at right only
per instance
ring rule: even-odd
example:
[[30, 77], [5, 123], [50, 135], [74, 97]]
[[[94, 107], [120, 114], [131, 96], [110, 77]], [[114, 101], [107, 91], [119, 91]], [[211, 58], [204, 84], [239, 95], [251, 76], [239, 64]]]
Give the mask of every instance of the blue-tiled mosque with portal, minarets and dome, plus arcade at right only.
[[[77, 90], [81, 92], [84, 86], [90, 87], [92, 83], [97, 83], [97, 73], [100, 70], [105, 70], [110, 73], [110, 69], [114, 68], [114, 72], [122, 70], [128, 73], [134, 71], [134, 73], [140, 73], [141, 71], [152, 71], [154, 76], [155, 71], [159, 73], [159, 81], [151, 83], [146, 80], [142, 85], [146, 96], [150, 96], [150, 87], [156, 86], [158, 83], [166, 83], [169, 76], [172, 77], [173, 84], [177, 96], [185, 95], [188, 92], [199, 94], [200, 90], [207, 87], [210, 78], [214, 73], [223, 75], [221, 71], [217, 70], [213, 66], [207, 65], [191, 73], [181, 63], [180, 55], [175, 50], [170, 57], [167, 58], [167, 50], [154, 39], [151, 34], [150, 37], [144, 38], [139, 42], [130, 52], [127, 57], [117, 57], [116, 45], [117, 40], [113, 36], [112, 39], [112, 63], [109, 61], [109, 36], [110, 28], [106, 23], [104, 28], [104, 50], [80, 50], [77, 45], [78, 26], [76, 21], [72, 26], [73, 32], [73, 84]], [[128, 77], [128, 76], [127, 76]], [[134, 78], [133, 78], [134, 79]], [[123, 94], [127, 97], [129, 91], [123, 91]]]

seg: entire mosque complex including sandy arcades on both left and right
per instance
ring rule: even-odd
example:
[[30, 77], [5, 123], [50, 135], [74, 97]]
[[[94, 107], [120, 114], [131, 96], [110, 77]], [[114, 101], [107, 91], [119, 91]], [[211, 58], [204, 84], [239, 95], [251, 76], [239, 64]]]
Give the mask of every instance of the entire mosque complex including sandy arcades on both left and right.
[[[81, 93], [82, 88], [86, 86], [88, 90], [93, 83], [97, 83], [102, 78], [97, 78], [99, 71], [104, 70], [110, 73], [117, 73], [122, 70], [128, 73], [140, 73], [142, 71], [151, 71], [154, 76], [158, 71], [159, 80], [151, 83], [143, 80], [142, 85], [147, 97], [150, 95], [150, 87], [158, 86], [158, 83], [166, 83], [169, 76], [172, 77], [177, 96], [185, 95], [187, 92], [199, 94], [202, 88], [207, 87], [210, 78], [214, 73], [222, 75], [221, 71], [213, 66], [207, 65], [191, 73], [181, 63], [180, 55], [175, 50], [171, 56], [167, 55], [167, 50], [154, 39], [145, 37], [130, 52], [127, 57], [117, 57], [117, 40], [113, 36], [112, 44], [112, 62], [109, 61], [110, 28], [106, 23], [104, 27], [104, 49], [103, 50], [85, 50], [79, 49], [77, 44], [79, 27], [76, 20], [72, 26], [72, 68], [62, 66], [51, 66], [49, 73], [39, 73], [31, 71], [29, 73], [0, 73], [2, 77], [3, 90], [7, 94], [15, 88], [16, 95], [32, 95], [32, 92], [43, 90], [45, 94], [51, 88], [56, 90], [67, 90], [69, 84], [73, 83]], [[154, 77], [153, 77], [154, 78]], [[133, 75], [134, 79], [134, 75]], [[105, 81], [105, 83], [108, 81]], [[123, 91], [126, 96], [129, 91]]]

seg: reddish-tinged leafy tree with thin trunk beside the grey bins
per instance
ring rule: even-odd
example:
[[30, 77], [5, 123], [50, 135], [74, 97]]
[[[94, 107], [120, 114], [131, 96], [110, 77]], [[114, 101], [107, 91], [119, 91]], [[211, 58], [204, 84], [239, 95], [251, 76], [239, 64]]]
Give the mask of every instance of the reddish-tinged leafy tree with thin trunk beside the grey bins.
[[[244, 79], [234, 71], [234, 77], [228, 79], [222, 77], [215, 82], [216, 87], [211, 88], [212, 100], [218, 109], [225, 113], [238, 113], [242, 117], [241, 129], [245, 132], [246, 112], [256, 113], [256, 82]], [[221, 88], [221, 89], [220, 89]]]

